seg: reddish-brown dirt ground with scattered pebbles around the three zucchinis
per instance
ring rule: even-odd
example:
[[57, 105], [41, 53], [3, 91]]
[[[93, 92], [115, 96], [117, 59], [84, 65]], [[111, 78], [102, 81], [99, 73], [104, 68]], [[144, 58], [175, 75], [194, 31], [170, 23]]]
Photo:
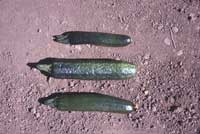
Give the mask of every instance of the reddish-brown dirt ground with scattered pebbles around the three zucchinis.
[[[199, 0], [0, 0], [1, 134], [200, 134]], [[127, 34], [123, 48], [61, 45], [65, 31]], [[28, 62], [113, 58], [137, 65], [134, 79], [51, 79]], [[133, 101], [124, 114], [61, 112], [38, 99], [98, 92]]]

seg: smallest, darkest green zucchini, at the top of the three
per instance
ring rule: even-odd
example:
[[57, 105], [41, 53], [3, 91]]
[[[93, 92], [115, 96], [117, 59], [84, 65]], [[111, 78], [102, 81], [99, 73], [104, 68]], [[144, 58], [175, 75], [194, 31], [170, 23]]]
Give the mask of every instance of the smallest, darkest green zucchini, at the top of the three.
[[131, 43], [131, 37], [127, 35], [70, 31], [53, 36], [53, 40], [63, 44], [94, 44], [110, 47], [122, 47]]

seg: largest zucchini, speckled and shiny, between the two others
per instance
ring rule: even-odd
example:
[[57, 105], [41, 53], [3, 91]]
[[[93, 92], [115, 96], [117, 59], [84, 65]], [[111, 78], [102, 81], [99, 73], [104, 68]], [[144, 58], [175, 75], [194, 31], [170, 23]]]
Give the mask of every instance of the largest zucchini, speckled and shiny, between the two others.
[[29, 63], [48, 77], [82, 80], [122, 80], [135, 75], [136, 67], [128, 62], [112, 59], [46, 58]]

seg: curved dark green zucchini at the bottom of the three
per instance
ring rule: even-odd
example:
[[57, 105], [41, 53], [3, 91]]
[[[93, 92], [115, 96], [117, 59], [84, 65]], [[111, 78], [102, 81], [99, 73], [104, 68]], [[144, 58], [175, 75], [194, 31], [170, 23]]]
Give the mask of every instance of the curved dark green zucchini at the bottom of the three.
[[39, 102], [61, 111], [101, 111], [129, 113], [136, 110], [132, 102], [99, 93], [55, 93]]

